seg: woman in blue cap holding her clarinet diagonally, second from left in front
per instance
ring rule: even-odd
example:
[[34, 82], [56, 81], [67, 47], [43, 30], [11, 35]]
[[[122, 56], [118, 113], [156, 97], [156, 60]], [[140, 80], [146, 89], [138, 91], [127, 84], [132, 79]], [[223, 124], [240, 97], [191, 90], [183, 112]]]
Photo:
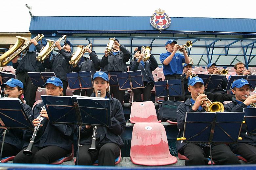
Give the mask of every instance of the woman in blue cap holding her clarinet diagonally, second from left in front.
[[[48, 78], [44, 85], [46, 86], [47, 95], [63, 95], [63, 84], [59, 78]], [[39, 128], [32, 147], [32, 155], [28, 156], [23, 153], [23, 151], [27, 149], [33, 134], [33, 131], [25, 130], [23, 135], [23, 149], [14, 158], [14, 163], [49, 164], [62, 157], [66, 157], [67, 154], [71, 153], [74, 131], [73, 126], [52, 124], [49, 121], [47, 111], [42, 109], [43, 106], [43, 102], [35, 105], [31, 114], [34, 126], [37, 126], [39, 123], [37, 116], [41, 115], [44, 117], [41, 122], [42, 126]]]

